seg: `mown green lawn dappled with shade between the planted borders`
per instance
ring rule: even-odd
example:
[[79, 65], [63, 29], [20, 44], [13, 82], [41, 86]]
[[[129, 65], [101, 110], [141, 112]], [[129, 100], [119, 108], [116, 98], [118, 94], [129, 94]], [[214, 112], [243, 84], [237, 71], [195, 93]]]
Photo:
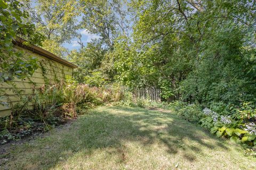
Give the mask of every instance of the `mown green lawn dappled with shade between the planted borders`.
[[[7, 169], [254, 169], [239, 145], [175, 114], [99, 107], [68, 128], [14, 146]], [[0, 168], [1, 169], [1, 168]]]

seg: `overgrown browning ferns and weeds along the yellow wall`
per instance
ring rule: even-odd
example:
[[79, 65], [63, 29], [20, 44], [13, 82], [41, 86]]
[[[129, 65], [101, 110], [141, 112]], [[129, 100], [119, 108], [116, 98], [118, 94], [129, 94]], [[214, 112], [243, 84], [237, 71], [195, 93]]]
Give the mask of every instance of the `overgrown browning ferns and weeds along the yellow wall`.
[[34, 94], [21, 97], [12, 115], [0, 118], [1, 143], [48, 131], [89, 108], [121, 102], [125, 97], [124, 88], [114, 84], [99, 88], [79, 84], [70, 77], [66, 81], [34, 88]]

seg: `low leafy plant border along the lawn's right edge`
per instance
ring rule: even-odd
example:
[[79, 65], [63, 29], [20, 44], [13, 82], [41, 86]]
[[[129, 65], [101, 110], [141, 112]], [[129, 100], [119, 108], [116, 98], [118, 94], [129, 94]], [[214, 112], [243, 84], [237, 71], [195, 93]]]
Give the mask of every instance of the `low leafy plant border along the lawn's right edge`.
[[[176, 101], [162, 107], [172, 109], [183, 119], [200, 124], [217, 137], [230, 139], [233, 143], [241, 143], [250, 146], [249, 152], [255, 155], [256, 131], [255, 131], [255, 108], [249, 103], [243, 104], [239, 108], [229, 106], [223, 110], [216, 105], [210, 108], [197, 104], [187, 104]], [[228, 114], [227, 114], [228, 113]]]

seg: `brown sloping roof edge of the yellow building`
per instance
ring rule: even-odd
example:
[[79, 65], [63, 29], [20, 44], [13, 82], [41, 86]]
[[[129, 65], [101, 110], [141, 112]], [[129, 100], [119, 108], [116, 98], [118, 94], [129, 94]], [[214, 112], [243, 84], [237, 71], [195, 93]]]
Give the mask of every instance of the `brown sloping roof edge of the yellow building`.
[[73, 64], [73, 63], [70, 63], [70, 62], [64, 60], [63, 58], [61, 58], [61, 57], [59, 57], [59, 56], [57, 56], [57, 55], [55, 55], [55, 54], [52, 54], [51, 52], [48, 52], [47, 50], [45, 50], [45, 49], [43, 49], [43, 48], [41, 48], [41, 47], [38, 47], [38, 46], [33, 45], [33, 44], [31, 44], [31, 45], [29, 45], [29, 46], [23, 44], [23, 43], [25, 43], [25, 42], [26, 42], [26, 40], [24, 40], [24, 39], [22, 39], [22, 38], [20, 38], [20, 37], [17, 37], [17, 38], [15, 38], [15, 40], [13, 41], [13, 44], [14, 44], [14, 45], [17, 45], [17, 46], [19, 46], [19, 47], [28, 49], [28, 50], [30, 50], [31, 52], [34, 52], [34, 53], [39, 54], [39, 55], [42, 55], [42, 56], [44, 56], [44, 57], [46, 57], [46, 58], [49, 58], [50, 60], [53, 60], [53, 61], [55, 61], [55, 62], [59, 62], [59, 63], [61, 63], [61, 64], [63, 64], [63, 65], [72, 67], [73, 69], [76, 69], [76, 68], [78, 67], [77, 65], [75, 65], [75, 64]]

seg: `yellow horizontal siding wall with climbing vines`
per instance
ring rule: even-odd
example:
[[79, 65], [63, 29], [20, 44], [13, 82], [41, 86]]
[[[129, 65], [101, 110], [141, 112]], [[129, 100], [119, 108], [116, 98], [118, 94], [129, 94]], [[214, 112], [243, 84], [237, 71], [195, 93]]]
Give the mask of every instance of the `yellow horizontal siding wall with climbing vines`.
[[[66, 75], [73, 75], [73, 68], [59, 62], [50, 60], [44, 56], [31, 52], [30, 50], [16, 46], [15, 50], [23, 50], [24, 57], [33, 56], [38, 59], [38, 69], [32, 76], [25, 80], [14, 79], [15, 86], [21, 90], [21, 95], [33, 94], [33, 88], [42, 87], [45, 81], [51, 84], [65, 81]], [[0, 105], [0, 117], [11, 114], [11, 107], [20, 102], [20, 97], [15, 93], [11, 84], [0, 83], [0, 101], [7, 102], [9, 106]]]

